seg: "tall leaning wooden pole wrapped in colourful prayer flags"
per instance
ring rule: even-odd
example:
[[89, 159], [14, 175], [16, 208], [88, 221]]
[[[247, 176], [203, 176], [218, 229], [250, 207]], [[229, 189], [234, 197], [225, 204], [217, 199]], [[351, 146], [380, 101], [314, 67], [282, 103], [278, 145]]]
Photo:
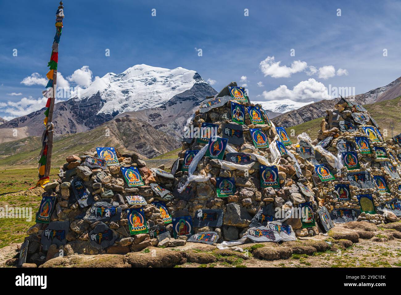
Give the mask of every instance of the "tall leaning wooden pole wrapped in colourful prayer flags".
[[49, 67], [49, 72], [46, 77], [49, 79], [47, 83], [47, 90], [43, 91], [43, 96], [47, 97], [46, 118], [43, 121], [45, 123], [45, 130], [42, 135], [42, 150], [38, 157], [38, 173], [39, 180], [36, 186], [44, 187], [46, 183], [50, 181], [50, 168], [51, 168], [51, 153], [53, 150], [53, 109], [54, 102], [57, 91], [57, 63], [59, 61], [59, 42], [61, 37], [61, 31], [63, 28], [63, 18], [64, 18], [64, 6], [63, 2], [60, 1], [60, 6], [57, 8], [56, 12], [56, 35], [54, 37], [52, 52], [50, 56], [50, 61], [47, 64]]

